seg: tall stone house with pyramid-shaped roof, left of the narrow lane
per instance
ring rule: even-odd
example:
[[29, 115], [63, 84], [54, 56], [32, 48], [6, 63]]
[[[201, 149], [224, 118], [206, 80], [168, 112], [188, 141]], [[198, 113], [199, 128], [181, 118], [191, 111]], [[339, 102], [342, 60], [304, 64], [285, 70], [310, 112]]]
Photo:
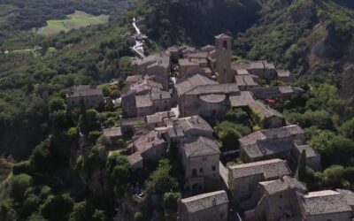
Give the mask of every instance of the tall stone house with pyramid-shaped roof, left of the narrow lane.
[[181, 163], [192, 192], [199, 193], [212, 180], [219, 179], [219, 155], [213, 138], [187, 136], [180, 142]]

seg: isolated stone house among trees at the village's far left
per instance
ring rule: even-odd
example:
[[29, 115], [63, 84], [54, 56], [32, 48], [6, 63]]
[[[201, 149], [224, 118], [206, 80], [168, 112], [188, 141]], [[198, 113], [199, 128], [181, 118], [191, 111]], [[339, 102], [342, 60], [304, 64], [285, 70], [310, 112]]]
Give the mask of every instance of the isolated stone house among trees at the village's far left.
[[104, 93], [100, 89], [89, 85], [73, 87], [66, 95], [66, 103], [69, 107], [99, 108], [104, 103]]

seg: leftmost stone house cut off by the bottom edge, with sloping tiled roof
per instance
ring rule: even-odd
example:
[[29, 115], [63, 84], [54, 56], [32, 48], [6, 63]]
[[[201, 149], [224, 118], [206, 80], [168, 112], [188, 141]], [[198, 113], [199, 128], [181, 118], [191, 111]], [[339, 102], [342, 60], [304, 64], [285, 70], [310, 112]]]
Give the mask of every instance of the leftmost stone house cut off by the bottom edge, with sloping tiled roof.
[[178, 203], [180, 221], [227, 221], [228, 198], [224, 190], [198, 194]]

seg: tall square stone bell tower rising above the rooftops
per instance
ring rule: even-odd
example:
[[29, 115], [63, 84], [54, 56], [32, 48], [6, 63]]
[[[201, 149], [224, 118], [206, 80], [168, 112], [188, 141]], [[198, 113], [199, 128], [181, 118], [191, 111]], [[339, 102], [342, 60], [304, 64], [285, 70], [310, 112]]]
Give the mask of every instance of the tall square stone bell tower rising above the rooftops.
[[220, 84], [235, 81], [234, 73], [231, 70], [232, 40], [233, 38], [227, 34], [215, 36], [216, 61], [214, 72]]

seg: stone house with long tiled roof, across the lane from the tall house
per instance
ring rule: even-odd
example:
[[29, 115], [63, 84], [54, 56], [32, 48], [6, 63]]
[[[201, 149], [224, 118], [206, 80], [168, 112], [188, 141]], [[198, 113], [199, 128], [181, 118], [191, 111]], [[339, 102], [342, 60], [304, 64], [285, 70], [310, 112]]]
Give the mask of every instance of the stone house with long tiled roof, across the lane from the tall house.
[[239, 164], [227, 168], [229, 187], [236, 202], [250, 199], [259, 182], [292, 174], [287, 162], [281, 159]]

